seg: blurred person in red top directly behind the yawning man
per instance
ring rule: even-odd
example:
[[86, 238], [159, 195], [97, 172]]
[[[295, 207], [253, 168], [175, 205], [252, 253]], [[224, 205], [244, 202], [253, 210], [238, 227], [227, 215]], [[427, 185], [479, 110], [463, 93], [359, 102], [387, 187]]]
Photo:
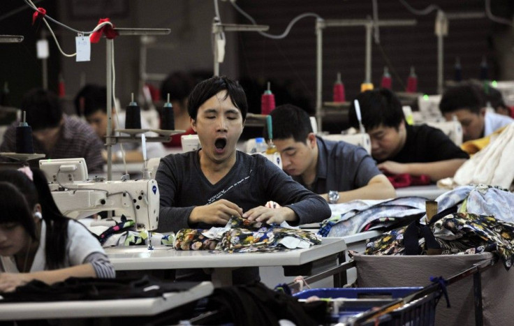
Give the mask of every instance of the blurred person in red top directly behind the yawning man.
[[166, 103], [170, 94], [170, 103], [173, 107], [175, 118], [175, 129], [184, 130], [184, 133], [172, 135], [169, 142], [164, 142], [166, 147], [181, 147], [182, 135], [193, 135], [195, 131], [191, 128], [189, 114], [187, 113], [187, 96], [195, 87], [194, 78], [188, 73], [177, 71], [166, 77], [161, 84], [161, 98]]

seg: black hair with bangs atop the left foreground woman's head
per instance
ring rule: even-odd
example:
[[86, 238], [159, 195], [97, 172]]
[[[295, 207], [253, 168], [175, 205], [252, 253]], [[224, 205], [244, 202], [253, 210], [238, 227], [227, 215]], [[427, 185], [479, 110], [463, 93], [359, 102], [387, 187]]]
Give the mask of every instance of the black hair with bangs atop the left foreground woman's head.
[[34, 217], [23, 193], [10, 182], [0, 181], [0, 196], [0, 224], [20, 224], [32, 239], [36, 239]]

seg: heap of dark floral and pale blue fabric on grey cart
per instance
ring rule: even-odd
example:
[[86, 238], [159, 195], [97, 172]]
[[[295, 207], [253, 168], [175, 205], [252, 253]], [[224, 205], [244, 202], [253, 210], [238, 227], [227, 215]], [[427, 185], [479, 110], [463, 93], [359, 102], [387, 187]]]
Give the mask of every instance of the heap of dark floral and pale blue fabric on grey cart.
[[[514, 262], [514, 194], [464, 186], [437, 199], [439, 214], [369, 240], [366, 255], [494, 252], [506, 269]], [[423, 222], [423, 220], [422, 220]]]

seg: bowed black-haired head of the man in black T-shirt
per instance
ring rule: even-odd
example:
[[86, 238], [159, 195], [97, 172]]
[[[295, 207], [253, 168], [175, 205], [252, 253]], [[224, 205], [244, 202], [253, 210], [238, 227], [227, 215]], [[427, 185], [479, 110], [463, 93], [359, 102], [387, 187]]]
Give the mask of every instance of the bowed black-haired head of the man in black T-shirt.
[[[372, 156], [377, 161], [392, 158], [405, 145], [405, 116], [397, 96], [389, 89], [374, 89], [360, 93], [355, 100], [359, 102], [362, 124], [372, 142]], [[359, 128], [352, 101], [348, 112], [350, 125]]]

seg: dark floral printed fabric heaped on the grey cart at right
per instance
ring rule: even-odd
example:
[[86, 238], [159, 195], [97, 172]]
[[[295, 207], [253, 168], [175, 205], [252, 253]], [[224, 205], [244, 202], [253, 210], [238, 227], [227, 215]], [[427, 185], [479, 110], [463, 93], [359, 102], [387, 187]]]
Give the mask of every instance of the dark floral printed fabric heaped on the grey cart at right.
[[[495, 252], [506, 269], [514, 262], [514, 223], [494, 216], [455, 213], [444, 216], [431, 226], [443, 254]], [[406, 227], [386, 232], [369, 240], [365, 255], [402, 255]], [[424, 239], [420, 239], [424, 246]]]

